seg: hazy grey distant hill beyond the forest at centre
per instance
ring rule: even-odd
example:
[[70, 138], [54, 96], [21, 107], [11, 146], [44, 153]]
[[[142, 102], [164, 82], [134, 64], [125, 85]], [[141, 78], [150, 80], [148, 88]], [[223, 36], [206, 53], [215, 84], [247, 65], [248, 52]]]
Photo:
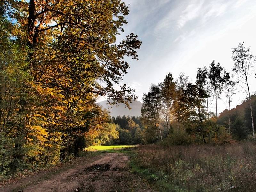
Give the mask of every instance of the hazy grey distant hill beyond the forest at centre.
[[[123, 115], [125, 116], [140, 116], [141, 115], [141, 107], [142, 107], [142, 103], [140, 101], [132, 101], [132, 103], [130, 103], [130, 107], [132, 109], [128, 109], [127, 107], [125, 107], [124, 103], [119, 103], [118, 106], [116, 105], [112, 105], [109, 106], [108, 102], [102, 101], [97, 103], [98, 105], [102, 106], [103, 108], [107, 109], [110, 112], [110, 116], [114, 116], [117, 117], [118, 115], [120, 115], [121, 117]], [[112, 108], [111, 108], [112, 107]]]

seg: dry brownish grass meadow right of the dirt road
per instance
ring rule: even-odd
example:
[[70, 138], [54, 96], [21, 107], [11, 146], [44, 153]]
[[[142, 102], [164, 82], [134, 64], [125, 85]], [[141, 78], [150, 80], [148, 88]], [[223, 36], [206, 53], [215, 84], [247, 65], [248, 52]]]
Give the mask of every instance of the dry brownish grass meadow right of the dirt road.
[[[172, 191], [256, 190], [256, 144], [252, 142], [221, 146], [141, 145], [135, 150], [135, 164], [155, 175], [155, 180], [177, 189]], [[236, 187], [230, 189], [231, 186]], [[170, 191], [168, 187], [161, 190], [164, 189]]]

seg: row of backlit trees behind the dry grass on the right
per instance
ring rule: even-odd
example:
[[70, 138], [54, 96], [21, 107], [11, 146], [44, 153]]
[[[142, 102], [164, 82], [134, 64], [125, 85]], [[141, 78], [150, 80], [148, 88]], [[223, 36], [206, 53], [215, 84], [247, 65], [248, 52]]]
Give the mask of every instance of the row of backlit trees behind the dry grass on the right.
[[[145, 141], [152, 143], [167, 138], [165, 142], [169, 144], [206, 144], [255, 138], [255, 97], [248, 84], [249, 79], [255, 78], [255, 58], [250, 47], [239, 43], [232, 50], [232, 60], [232, 74], [212, 61], [208, 67], [198, 68], [194, 83], [184, 73], [176, 79], [168, 73], [163, 82], [152, 84], [142, 99]], [[242, 110], [231, 110], [237, 85], [247, 97]], [[218, 117], [218, 103], [223, 96], [228, 109]], [[215, 112], [210, 110], [213, 105]]]

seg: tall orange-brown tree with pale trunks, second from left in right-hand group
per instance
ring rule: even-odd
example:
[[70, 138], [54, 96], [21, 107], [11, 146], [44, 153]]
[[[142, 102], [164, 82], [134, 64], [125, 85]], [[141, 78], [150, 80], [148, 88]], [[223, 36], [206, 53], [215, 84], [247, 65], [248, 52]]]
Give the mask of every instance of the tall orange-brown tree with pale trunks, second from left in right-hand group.
[[169, 72], [164, 79], [164, 82], [159, 83], [162, 94], [162, 114], [167, 125], [167, 134], [173, 132], [171, 130], [171, 115], [173, 114], [173, 102], [175, 100], [176, 84], [173, 81], [172, 73]]

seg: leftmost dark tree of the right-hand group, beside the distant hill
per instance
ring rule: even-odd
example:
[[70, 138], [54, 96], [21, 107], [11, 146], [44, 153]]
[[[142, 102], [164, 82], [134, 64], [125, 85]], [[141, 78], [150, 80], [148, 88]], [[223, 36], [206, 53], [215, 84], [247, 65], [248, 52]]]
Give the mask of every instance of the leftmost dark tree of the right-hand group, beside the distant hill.
[[148, 94], [144, 94], [142, 98], [143, 104], [141, 114], [144, 125], [152, 128], [156, 132], [156, 139], [158, 139], [157, 127], [159, 129], [160, 138], [162, 133], [160, 129], [160, 110], [161, 110], [161, 90], [156, 85], [151, 85]]

